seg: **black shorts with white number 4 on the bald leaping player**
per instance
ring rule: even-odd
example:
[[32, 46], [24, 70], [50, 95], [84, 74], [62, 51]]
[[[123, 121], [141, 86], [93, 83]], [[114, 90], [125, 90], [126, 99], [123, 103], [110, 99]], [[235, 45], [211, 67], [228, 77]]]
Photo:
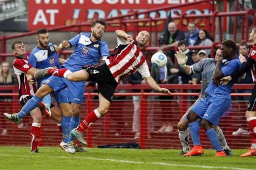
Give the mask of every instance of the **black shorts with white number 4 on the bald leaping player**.
[[105, 61], [97, 63], [94, 66], [84, 67], [89, 73], [89, 80], [98, 83], [98, 93], [102, 94], [106, 100], [112, 102], [114, 90], [117, 88], [117, 82], [107, 67]]

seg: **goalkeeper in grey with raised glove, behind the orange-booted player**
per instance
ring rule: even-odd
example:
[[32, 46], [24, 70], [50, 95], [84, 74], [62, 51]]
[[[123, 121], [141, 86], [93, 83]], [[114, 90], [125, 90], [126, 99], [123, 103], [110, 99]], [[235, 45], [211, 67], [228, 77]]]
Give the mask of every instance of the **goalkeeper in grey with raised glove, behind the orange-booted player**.
[[[192, 66], [186, 66], [185, 63], [187, 62], [187, 56], [181, 51], [177, 51], [177, 54], [175, 54], [175, 56], [177, 58], [180, 68], [183, 69], [183, 71], [186, 74], [201, 73], [201, 91], [200, 91], [200, 96], [198, 100], [194, 103], [196, 104], [198, 101], [201, 100], [201, 98], [205, 97], [205, 89], [212, 82], [213, 72], [216, 66], [215, 60], [222, 58], [221, 50], [220, 49], [217, 50], [215, 59], [205, 58], [200, 60], [197, 63], [194, 63]], [[179, 139], [180, 139], [181, 145], [183, 146], [183, 150], [180, 152], [180, 155], [184, 155], [190, 152], [190, 141], [189, 141], [190, 133], [188, 132], [188, 129], [187, 129], [188, 128], [187, 114], [191, 110], [193, 105], [186, 111], [186, 113], [178, 123]], [[199, 124], [201, 124], [201, 118], [198, 118], [198, 122]], [[232, 155], [230, 147], [228, 147], [227, 145], [223, 131], [220, 129], [219, 126], [212, 125], [212, 128], [216, 131], [217, 136], [219, 138], [219, 142], [223, 146], [225, 154]]]

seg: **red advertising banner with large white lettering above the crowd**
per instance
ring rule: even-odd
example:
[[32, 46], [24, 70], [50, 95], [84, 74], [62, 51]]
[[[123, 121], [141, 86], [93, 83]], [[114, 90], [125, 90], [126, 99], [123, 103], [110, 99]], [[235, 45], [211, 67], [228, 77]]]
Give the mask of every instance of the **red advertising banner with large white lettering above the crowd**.
[[[116, 17], [132, 11], [146, 11], [166, 5], [186, 4], [197, 0], [31, 0], [28, 1], [28, 30], [39, 27], [71, 25], [93, 18]], [[166, 17], [170, 11], [151, 12], [139, 18]], [[172, 16], [208, 13], [208, 4], [197, 4], [171, 10]], [[127, 27], [133, 30], [132, 26]], [[107, 31], [112, 31], [108, 28]]]

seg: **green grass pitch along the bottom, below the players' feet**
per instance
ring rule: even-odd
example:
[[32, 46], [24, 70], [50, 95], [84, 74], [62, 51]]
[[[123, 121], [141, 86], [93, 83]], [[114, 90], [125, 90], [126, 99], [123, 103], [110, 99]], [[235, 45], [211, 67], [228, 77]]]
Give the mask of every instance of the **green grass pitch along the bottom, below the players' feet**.
[[85, 153], [65, 153], [58, 147], [0, 147], [0, 169], [256, 169], [256, 157], [239, 158], [247, 150], [232, 150], [232, 157], [183, 157], [180, 150], [89, 148]]

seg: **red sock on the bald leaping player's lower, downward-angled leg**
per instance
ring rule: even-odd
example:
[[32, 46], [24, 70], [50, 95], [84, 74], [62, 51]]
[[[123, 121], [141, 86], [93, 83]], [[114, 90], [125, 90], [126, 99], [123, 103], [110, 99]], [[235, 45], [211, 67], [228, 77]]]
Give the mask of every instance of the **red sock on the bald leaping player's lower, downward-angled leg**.
[[[83, 132], [84, 130], [89, 128], [91, 126], [91, 124], [95, 123], [97, 121], [97, 119], [100, 117], [100, 116], [99, 117], [96, 116], [96, 114], [95, 114], [96, 111], [97, 111], [96, 109], [91, 111], [90, 114], [86, 116], [84, 121], [82, 123], [80, 123], [79, 126], [77, 126], [76, 130]], [[99, 113], [98, 113], [98, 115], [99, 115]]]

